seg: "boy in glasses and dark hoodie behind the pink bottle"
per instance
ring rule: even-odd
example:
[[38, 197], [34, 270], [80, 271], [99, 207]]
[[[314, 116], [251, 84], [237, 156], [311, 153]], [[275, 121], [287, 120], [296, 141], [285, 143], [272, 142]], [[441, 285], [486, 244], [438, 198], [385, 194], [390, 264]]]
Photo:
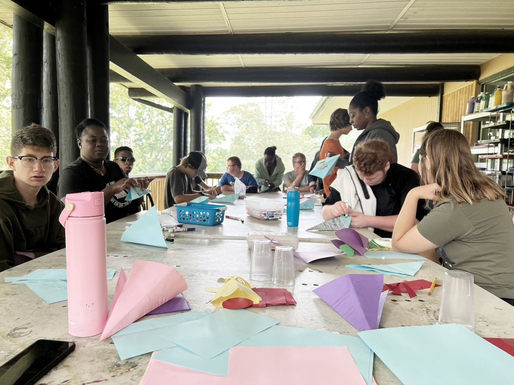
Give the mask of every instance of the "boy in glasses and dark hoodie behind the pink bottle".
[[0, 174], [0, 272], [66, 247], [62, 203], [46, 184], [59, 167], [53, 133], [37, 124], [16, 131], [10, 170]]

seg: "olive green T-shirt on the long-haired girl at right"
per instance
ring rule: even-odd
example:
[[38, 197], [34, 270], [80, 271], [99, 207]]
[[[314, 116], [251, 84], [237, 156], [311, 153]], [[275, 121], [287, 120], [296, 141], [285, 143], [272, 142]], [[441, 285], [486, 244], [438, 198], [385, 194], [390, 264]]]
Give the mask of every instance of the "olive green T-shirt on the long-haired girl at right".
[[495, 296], [514, 298], [514, 224], [503, 199], [460, 206], [441, 201], [417, 229], [444, 248], [445, 267], [473, 274], [474, 283]]

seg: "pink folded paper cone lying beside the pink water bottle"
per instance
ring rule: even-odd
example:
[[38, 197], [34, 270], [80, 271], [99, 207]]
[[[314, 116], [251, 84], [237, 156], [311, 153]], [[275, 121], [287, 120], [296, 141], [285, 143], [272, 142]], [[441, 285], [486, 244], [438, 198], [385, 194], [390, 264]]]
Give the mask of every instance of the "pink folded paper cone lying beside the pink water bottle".
[[156, 309], [188, 288], [174, 267], [136, 260], [128, 279], [111, 309], [100, 341]]

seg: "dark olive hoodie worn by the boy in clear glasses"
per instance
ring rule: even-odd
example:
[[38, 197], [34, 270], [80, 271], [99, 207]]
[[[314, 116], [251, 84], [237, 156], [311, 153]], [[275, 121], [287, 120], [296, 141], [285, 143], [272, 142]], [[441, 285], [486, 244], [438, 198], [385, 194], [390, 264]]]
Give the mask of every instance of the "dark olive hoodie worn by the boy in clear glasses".
[[23, 200], [12, 171], [0, 174], [0, 272], [14, 266], [15, 252], [41, 257], [66, 247], [59, 223], [64, 203], [46, 186], [41, 187], [38, 202], [32, 206]]

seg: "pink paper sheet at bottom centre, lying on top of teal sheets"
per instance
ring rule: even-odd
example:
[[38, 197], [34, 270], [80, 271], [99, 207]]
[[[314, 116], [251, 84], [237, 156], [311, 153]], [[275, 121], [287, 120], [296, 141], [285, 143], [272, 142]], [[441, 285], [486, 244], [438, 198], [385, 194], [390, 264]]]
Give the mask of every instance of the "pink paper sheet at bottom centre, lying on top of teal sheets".
[[227, 385], [332, 383], [365, 385], [346, 347], [230, 348]]

